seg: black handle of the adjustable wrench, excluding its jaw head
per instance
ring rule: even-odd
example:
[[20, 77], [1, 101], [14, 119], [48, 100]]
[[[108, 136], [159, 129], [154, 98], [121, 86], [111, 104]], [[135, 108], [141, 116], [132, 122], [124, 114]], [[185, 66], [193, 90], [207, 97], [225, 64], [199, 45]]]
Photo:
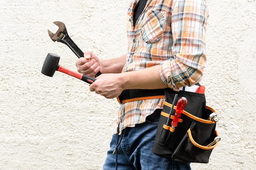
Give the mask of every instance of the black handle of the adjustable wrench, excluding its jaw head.
[[[65, 37], [63, 39], [59, 38], [59, 41], [66, 44], [75, 54], [78, 58], [83, 57], [83, 51], [74, 43], [74, 41], [70, 38], [70, 36], [66, 33]], [[101, 75], [101, 71], [97, 72], [95, 77]]]

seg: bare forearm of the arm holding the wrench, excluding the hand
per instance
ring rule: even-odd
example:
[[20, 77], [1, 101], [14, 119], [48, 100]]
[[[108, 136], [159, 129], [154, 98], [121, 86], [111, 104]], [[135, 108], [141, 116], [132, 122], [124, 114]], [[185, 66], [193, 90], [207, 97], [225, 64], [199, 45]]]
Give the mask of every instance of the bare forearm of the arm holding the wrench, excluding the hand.
[[126, 63], [126, 55], [115, 59], [101, 60], [102, 73], [121, 73]]

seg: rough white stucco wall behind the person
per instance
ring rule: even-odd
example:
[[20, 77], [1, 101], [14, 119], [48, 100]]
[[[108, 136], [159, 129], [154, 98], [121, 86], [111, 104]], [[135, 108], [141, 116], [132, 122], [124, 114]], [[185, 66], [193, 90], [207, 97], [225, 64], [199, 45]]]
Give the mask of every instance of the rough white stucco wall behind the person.
[[[74, 42], [101, 59], [126, 53], [128, 0], [0, 1], [0, 169], [100, 170], [118, 103], [88, 84], [41, 74], [48, 52], [76, 70], [77, 57], [47, 33], [62, 21]], [[256, 1], [208, 0], [207, 105], [221, 136], [208, 164], [193, 170], [254, 170], [256, 165]]]

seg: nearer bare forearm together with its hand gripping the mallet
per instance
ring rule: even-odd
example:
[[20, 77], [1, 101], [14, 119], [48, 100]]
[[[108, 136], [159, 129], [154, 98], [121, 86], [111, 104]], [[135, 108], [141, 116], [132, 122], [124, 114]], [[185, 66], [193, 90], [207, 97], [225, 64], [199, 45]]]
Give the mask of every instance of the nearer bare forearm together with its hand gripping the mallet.
[[106, 98], [115, 98], [126, 89], [163, 89], [167, 85], [161, 79], [159, 66], [119, 74], [101, 74], [90, 85], [90, 91]]

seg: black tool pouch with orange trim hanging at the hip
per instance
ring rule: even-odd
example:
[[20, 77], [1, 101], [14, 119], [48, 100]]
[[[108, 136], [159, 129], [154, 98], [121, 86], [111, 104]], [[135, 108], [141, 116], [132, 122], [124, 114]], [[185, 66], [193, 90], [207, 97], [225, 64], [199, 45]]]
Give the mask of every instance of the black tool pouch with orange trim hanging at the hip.
[[[178, 95], [177, 98], [185, 97], [188, 102], [177, 127], [172, 129], [171, 123], [166, 125], [166, 122], [175, 94]], [[159, 119], [153, 153], [174, 161], [208, 163], [211, 151], [218, 142], [212, 146], [207, 145], [213, 142], [218, 133], [215, 130], [216, 122], [207, 119], [216, 111], [206, 106], [204, 94], [165, 89], [165, 96], [166, 102]], [[174, 113], [175, 109], [174, 106]], [[173, 112], [171, 115], [172, 121]]]

